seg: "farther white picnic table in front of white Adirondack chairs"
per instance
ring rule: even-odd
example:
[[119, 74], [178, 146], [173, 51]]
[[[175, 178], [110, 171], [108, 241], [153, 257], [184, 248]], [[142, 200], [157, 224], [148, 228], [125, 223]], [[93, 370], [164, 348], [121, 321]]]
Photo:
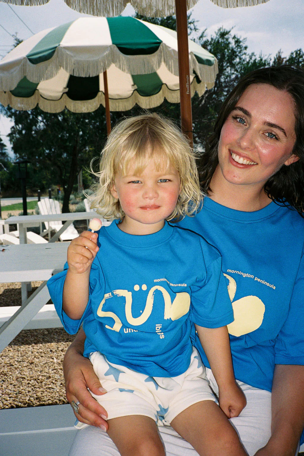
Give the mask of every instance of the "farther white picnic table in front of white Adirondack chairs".
[[4, 221], [5, 225], [19, 225], [20, 244], [26, 244], [26, 228], [39, 226], [43, 222], [57, 222], [65, 220], [59, 231], [49, 239], [49, 242], [55, 242], [59, 236], [67, 229], [75, 220], [88, 220], [96, 217], [96, 212], [68, 212], [63, 214], [33, 214], [33, 215], [16, 215], [9, 217]]

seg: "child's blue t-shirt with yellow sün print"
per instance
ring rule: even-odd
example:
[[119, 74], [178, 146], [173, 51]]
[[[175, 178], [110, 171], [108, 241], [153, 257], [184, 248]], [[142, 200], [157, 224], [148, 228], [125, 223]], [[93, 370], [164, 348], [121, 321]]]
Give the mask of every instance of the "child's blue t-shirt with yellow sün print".
[[233, 321], [222, 258], [201, 236], [165, 223], [134, 236], [113, 222], [98, 235], [89, 301], [81, 320], [62, 311], [66, 270], [48, 281], [67, 332], [86, 333], [84, 355], [96, 350], [110, 362], [154, 377], [189, 367], [193, 323], [208, 328]]

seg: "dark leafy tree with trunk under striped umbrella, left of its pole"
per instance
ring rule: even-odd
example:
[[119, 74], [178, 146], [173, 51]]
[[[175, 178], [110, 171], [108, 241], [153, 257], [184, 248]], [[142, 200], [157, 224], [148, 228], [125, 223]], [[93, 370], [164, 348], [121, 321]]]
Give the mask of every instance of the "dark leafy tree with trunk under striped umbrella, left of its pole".
[[99, 144], [101, 149], [100, 143], [106, 136], [103, 107], [88, 114], [67, 109], [50, 114], [38, 107], [31, 111], [6, 108], [5, 112], [15, 123], [8, 135], [15, 156], [30, 161], [35, 171], [31, 185], [61, 186], [64, 189], [62, 212], [69, 212], [69, 198], [77, 174], [98, 155], [96, 147]]

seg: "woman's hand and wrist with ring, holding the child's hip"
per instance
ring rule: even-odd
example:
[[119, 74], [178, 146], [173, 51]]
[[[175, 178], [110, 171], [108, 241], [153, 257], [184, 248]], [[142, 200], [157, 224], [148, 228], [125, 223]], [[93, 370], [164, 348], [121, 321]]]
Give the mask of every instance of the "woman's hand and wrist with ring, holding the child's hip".
[[67, 400], [79, 401], [79, 414], [75, 414], [77, 420], [82, 423], [108, 429], [106, 410], [88, 392], [88, 388], [94, 394], [104, 394], [93, 365], [88, 358], [82, 356], [86, 335], [82, 329], [78, 332], [75, 340], [68, 347], [63, 359], [63, 374], [66, 383]]

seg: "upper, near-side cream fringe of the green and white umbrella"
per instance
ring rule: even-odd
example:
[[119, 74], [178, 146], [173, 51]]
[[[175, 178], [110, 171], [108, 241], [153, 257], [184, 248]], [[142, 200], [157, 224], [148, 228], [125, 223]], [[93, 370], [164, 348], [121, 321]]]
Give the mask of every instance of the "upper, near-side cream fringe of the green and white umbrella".
[[[102, 58], [102, 62], [100, 62]], [[162, 43], [157, 52], [147, 56], [125, 56], [115, 45], [107, 48], [102, 57], [94, 61], [75, 60], [69, 55], [66, 49], [57, 47], [53, 57], [46, 61], [33, 64], [25, 57], [17, 69], [0, 71], [1, 86], [0, 90], [5, 92], [13, 90], [22, 78], [26, 77], [33, 83], [46, 81], [54, 78], [59, 70], [63, 68], [67, 73], [78, 77], [92, 77], [103, 73], [113, 63], [121, 71], [130, 74], [146, 74], [157, 71], [162, 62], [170, 73], [178, 76], [177, 52]], [[214, 58], [212, 66], [198, 63], [195, 55], [189, 54], [190, 71], [193, 69], [201, 81], [209, 82], [215, 79], [218, 72], [217, 61]]]

